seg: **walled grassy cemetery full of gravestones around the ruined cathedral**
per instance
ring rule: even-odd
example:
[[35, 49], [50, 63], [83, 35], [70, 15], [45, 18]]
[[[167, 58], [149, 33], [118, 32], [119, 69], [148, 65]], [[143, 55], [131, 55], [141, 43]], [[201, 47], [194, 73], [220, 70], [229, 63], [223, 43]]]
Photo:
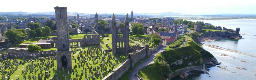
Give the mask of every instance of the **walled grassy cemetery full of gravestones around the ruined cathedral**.
[[[39, 52], [27, 52], [12, 48], [0, 54], [0, 79], [2, 80], [117, 80], [142, 58], [162, 45], [155, 45], [147, 35], [129, 35], [128, 15], [126, 25], [116, 26], [112, 20], [112, 32], [100, 36], [92, 34], [69, 35], [65, 7], [55, 7], [58, 36], [37, 37], [16, 43], [50, 43], [51, 48]], [[62, 13], [64, 11], [64, 13]], [[114, 14], [113, 14], [113, 17]], [[115, 19], [115, 18], [113, 18]], [[59, 26], [64, 25], [64, 26]], [[116, 29], [117, 30], [117, 29]], [[123, 33], [122, 33], [123, 32]], [[127, 33], [126, 33], [127, 32]], [[117, 36], [118, 35], [118, 36]], [[46, 39], [46, 40], [45, 40]], [[49, 39], [49, 40], [48, 40]]]

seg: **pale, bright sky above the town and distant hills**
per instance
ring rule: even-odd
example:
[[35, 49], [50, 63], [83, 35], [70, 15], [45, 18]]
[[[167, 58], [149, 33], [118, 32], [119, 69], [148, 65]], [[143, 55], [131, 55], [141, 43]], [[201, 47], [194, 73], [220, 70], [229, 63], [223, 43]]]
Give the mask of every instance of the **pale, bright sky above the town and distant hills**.
[[1, 0], [0, 12], [256, 14], [256, 0]]

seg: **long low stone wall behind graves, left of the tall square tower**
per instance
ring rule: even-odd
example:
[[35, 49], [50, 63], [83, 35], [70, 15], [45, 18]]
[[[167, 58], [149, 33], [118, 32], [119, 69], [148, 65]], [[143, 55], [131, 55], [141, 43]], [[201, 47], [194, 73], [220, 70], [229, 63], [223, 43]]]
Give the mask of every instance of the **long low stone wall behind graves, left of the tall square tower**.
[[41, 52], [17, 52], [17, 53], [5, 53], [1, 54], [2, 58], [36, 58], [40, 56], [53, 56], [55, 55], [55, 50], [49, 50], [49, 51], [41, 51]]

